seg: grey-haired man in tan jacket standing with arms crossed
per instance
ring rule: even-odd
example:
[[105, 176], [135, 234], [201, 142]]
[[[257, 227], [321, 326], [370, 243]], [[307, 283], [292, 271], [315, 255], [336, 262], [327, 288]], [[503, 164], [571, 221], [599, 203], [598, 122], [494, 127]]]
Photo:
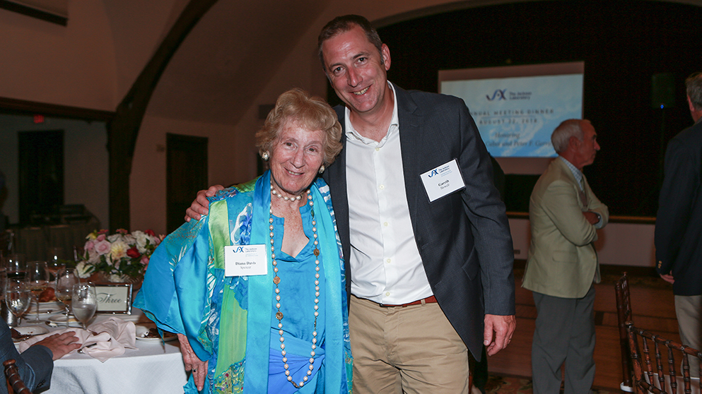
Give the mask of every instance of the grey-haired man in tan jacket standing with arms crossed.
[[599, 282], [597, 229], [609, 212], [582, 170], [599, 144], [590, 121], [563, 121], [551, 135], [558, 157], [534, 186], [529, 205], [532, 242], [522, 287], [537, 307], [532, 342], [535, 394], [558, 394], [566, 363], [564, 394], [590, 393], [595, 379], [595, 287]]

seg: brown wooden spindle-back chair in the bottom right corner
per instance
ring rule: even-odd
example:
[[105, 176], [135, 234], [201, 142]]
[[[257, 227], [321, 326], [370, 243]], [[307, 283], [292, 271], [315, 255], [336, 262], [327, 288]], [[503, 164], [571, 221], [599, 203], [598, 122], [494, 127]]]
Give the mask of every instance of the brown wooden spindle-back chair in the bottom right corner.
[[[692, 347], [681, 345], [672, 340], [666, 340], [660, 335], [649, 333], [636, 328], [631, 321], [626, 322], [629, 347], [631, 348], [631, 361], [633, 364], [633, 386], [636, 393], [668, 394], [677, 393], [679, 376], [676, 373], [679, 361], [674, 354], [678, 352], [682, 358], [682, 383], [684, 393], [691, 393], [690, 357], [697, 357], [702, 361], [702, 352]], [[642, 342], [643, 353], [639, 352], [638, 340]], [[651, 347], [653, 345], [653, 349]], [[667, 349], [667, 359], [662, 359], [661, 350]], [[653, 357], [651, 353], [653, 352]], [[643, 358], [643, 362], [642, 362]], [[653, 364], [655, 362], [655, 365]], [[667, 371], [664, 369], [667, 364]], [[645, 366], [645, 369], [644, 369]], [[702, 376], [702, 364], [700, 366]], [[697, 380], [697, 379], [696, 379]], [[698, 380], [702, 392], [702, 379]]]

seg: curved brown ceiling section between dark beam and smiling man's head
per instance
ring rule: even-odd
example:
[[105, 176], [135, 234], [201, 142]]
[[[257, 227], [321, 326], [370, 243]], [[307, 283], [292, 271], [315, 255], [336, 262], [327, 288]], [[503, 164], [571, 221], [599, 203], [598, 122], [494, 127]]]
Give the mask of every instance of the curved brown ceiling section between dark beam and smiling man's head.
[[219, 0], [173, 56], [148, 113], [237, 123], [326, 2]]

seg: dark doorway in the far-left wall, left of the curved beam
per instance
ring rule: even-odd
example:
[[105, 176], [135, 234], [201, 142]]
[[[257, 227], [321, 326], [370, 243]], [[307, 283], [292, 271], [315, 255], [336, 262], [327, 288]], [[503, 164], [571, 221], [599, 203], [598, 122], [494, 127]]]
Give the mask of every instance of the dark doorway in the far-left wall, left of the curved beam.
[[20, 131], [20, 223], [41, 223], [64, 205], [64, 131]]

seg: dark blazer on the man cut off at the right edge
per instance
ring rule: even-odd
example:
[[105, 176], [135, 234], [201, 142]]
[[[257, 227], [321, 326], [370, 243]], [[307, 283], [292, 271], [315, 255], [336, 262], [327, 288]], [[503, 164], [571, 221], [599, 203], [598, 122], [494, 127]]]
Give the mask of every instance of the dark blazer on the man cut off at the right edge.
[[[668, 143], [655, 223], [658, 273], [672, 270], [673, 293], [702, 294], [702, 119]], [[332, 198], [334, 198], [332, 196]]]

